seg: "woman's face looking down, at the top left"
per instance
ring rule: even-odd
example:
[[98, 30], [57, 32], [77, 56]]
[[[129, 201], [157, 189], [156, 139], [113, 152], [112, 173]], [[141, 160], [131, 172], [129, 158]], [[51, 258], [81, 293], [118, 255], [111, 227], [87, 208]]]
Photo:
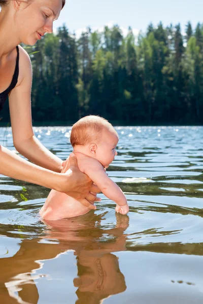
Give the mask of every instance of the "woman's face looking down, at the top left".
[[19, 39], [33, 46], [46, 32], [52, 33], [53, 21], [59, 17], [62, 1], [33, 0], [28, 6], [22, 2], [20, 6], [15, 15]]

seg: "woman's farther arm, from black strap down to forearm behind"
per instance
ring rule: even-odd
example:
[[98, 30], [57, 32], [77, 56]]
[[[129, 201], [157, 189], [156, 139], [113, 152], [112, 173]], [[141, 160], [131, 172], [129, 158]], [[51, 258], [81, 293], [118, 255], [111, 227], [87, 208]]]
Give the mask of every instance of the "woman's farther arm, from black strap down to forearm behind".
[[35, 137], [31, 122], [32, 69], [28, 54], [19, 47], [19, 78], [9, 96], [9, 108], [14, 146], [31, 162], [46, 169], [61, 172], [62, 161]]

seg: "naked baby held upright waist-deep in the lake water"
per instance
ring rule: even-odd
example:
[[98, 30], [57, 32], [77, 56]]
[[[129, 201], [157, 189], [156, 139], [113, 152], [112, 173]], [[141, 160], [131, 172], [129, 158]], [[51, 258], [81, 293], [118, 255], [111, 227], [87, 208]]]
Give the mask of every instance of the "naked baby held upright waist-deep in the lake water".
[[[73, 125], [71, 132], [71, 144], [80, 171], [88, 175], [106, 197], [116, 202], [116, 212], [126, 214], [129, 211], [127, 200], [119, 186], [106, 173], [106, 168], [117, 155], [118, 139], [113, 126], [98, 116], [80, 119]], [[69, 169], [68, 159], [64, 169]], [[79, 216], [89, 211], [88, 207], [72, 197], [51, 190], [40, 215], [44, 219], [57, 220]]]

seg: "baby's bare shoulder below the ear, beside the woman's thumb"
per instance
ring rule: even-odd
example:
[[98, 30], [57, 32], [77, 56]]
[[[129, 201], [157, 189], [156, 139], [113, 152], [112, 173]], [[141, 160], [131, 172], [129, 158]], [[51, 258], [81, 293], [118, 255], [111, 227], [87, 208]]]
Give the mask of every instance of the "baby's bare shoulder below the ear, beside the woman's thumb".
[[83, 153], [80, 152], [75, 152], [75, 155], [77, 157], [77, 161], [78, 161], [78, 167], [80, 169], [80, 171], [82, 172], [86, 172], [88, 169], [94, 168], [94, 170], [99, 170], [99, 169], [104, 169], [103, 165], [101, 165], [101, 163], [99, 163], [99, 161], [97, 161], [96, 159], [89, 157]]

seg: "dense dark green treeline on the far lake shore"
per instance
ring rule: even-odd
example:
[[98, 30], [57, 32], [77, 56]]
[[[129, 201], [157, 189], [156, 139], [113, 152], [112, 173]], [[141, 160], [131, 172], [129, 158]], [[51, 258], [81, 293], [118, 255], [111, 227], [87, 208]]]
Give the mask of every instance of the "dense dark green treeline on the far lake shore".
[[79, 39], [60, 27], [27, 48], [33, 123], [94, 114], [119, 124], [202, 124], [202, 50], [199, 23], [188, 22], [185, 35], [180, 24], [150, 24], [136, 43], [130, 27], [126, 37], [115, 25]]

